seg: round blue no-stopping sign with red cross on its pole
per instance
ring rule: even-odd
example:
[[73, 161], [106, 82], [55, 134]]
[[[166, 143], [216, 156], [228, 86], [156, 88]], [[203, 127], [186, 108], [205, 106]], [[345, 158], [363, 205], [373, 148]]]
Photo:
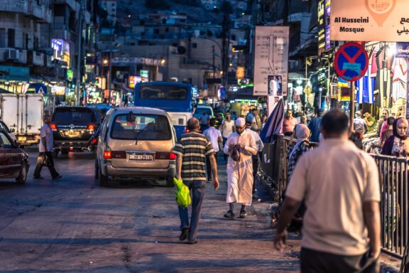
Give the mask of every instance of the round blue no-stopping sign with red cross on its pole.
[[334, 68], [339, 77], [351, 82], [351, 97], [349, 103], [349, 120], [351, 130], [354, 129], [354, 82], [364, 77], [368, 70], [369, 58], [364, 46], [359, 43], [345, 43], [334, 58]]

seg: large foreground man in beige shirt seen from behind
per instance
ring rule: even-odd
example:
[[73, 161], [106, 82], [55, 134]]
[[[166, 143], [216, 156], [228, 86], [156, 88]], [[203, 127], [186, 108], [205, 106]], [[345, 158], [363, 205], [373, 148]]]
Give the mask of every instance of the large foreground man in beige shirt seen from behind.
[[349, 136], [340, 109], [322, 118], [320, 146], [298, 161], [285, 192], [274, 239], [283, 250], [287, 227], [302, 200], [301, 272], [378, 272], [380, 189], [375, 161]]

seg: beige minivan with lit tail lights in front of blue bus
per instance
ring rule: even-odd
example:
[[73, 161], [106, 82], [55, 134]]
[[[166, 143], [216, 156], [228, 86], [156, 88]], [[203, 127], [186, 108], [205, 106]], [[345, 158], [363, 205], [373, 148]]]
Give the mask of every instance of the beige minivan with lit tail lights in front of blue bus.
[[165, 178], [173, 186], [176, 134], [168, 113], [148, 107], [110, 109], [95, 160], [100, 186], [112, 178]]

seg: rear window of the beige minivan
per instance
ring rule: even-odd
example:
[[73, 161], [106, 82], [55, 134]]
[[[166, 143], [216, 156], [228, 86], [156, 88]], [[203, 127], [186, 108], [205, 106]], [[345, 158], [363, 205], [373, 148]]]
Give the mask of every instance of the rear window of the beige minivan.
[[112, 139], [169, 140], [170, 125], [165, 116], [158, 114], [133, 114], [135, 121], [127, 121], [129, 114], [118, 114], [111, 126]]

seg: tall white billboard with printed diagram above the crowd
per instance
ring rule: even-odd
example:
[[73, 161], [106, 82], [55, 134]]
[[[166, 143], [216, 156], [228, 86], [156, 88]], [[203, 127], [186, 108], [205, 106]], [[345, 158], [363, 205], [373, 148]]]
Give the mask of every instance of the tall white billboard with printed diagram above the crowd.
[[280, 77], [281, 94], [287, 95], [288, 26], [256, 26], [253, 95], [268, 95], [268, 79]]

